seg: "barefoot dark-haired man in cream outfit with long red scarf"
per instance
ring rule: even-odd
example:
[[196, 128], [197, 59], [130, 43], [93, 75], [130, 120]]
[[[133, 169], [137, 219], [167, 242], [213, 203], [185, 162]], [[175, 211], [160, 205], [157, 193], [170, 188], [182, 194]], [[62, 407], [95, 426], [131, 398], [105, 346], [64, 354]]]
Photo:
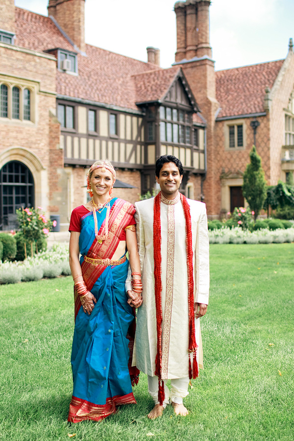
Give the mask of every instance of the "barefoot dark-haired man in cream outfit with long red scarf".
[[[188, 415], [183, 398], [198, 366], [203, 368], [199, 318], [206, 314], [209, 295], [205, 204], [179, 193], [183, 167], [174, 156], [161, 156], [155, 175], [160, 193], [135, 203], [143, 282], [136, 365], [148, 376], [154, 400], [150, 419], [160, 417], [170, 402], [177, 415]], [[126, 289], [132, 298], [128, 283]]]

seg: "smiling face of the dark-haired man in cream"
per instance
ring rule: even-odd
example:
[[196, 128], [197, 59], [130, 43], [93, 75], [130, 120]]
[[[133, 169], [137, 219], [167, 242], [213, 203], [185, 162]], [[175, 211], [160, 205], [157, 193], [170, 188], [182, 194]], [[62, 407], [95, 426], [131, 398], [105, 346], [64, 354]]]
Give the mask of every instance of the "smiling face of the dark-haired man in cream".
[[183, 175], [180, 175], [174, 162], [166, 162], [159, 172], [159, 177], [156, 176], [156, 181], [160, 185], [163, 196], [170, 199], [171, 196], [175, 197], [177, 195], [182, 178]]

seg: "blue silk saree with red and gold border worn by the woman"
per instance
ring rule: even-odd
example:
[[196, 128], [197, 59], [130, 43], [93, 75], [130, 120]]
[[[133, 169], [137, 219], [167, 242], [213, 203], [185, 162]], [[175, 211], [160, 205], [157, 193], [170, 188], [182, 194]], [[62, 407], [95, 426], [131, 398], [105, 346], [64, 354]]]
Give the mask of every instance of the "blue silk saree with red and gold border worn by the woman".
[[[108, 236], [98, 243], [93, 213], [81, 219], [79, 249], [81, 269], [89, 291], [97, 303], [89, 316], [75, 297], [72, 369], [73, 397], [68, 421], [99, 420], [116, 411], [121, 404], [136, 403], [132, 383], [138, 382], [138, 369], [129, 362], [134, 335], [134, 311], [127, 303], [124, 283], [128, 260], [117, 266], [97, 265], [85, 261], [110, 259], [123, 229], [129, 224], [134, 207], [122, 199], [110, 201]], [[97, 212], [99, 235], [105, 234], [106, 210]], [[132, 377], [132, 378], [131, 378]]]

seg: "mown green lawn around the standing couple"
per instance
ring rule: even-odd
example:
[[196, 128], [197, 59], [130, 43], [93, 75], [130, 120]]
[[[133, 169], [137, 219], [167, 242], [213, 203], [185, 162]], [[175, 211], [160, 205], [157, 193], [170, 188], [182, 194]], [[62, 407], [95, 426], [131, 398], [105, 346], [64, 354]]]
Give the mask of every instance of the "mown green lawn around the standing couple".
[[72, 426], [71, 277], [0, 286], [0, 440], [293, 441], [293, 274], [293, 244], [212, 245], [205, 369], [189, 416], [169, 406], [140, 418], [152, 408], [141, 375], [137, 406]]

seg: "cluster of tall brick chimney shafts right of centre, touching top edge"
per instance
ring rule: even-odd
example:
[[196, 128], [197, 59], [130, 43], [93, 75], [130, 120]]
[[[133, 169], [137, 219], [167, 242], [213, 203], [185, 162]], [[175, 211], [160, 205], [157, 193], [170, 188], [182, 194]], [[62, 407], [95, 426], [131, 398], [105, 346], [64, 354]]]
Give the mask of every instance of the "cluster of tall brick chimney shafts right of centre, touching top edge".
[[208, 55], [209, 45], [209, 6], [210, 0], [177, 1], [176, 14], [177, 50], [175, 61], [191, 60]]

